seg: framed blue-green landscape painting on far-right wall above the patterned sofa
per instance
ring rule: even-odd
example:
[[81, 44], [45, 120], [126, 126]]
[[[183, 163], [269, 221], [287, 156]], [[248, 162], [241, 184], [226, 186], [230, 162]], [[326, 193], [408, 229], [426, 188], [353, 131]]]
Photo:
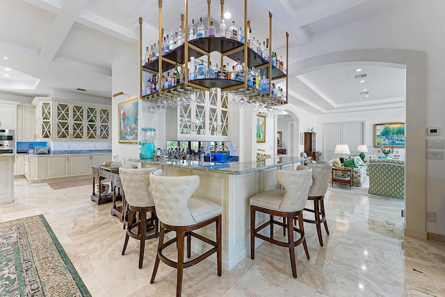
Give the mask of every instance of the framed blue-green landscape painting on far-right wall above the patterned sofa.
[[405, 147], [405, 123], [374, 124], [374, 147]]

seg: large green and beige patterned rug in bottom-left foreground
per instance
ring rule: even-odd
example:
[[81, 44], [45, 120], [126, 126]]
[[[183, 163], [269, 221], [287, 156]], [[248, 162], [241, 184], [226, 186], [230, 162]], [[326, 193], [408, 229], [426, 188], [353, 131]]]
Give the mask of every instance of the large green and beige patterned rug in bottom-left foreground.
[[0, 223], [0, 296], [91, 296], [42, 214]]

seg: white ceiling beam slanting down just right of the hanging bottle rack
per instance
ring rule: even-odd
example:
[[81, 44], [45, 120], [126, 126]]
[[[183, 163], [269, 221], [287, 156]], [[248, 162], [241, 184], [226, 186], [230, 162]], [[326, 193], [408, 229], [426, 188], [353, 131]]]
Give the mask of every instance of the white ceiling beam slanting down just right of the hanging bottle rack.
[[296, 26], [295, 24], [295, 11], [294, 10], [288, 10], [290, 9], [289, 6], [283, 6], [282, 3], [280, 4], [277, 1], [270, 1], [270, 0], [259, 0], [266, 8], [269, 10], [273, 15], [273, 21], [272, 22], [278, 22], [282, 25], [283, 28], [289, 33], [289, 38], [296, 42], [298, 45], [304, 45], [309, 43], [309, 33], [305, 31], [304, 29], [300, 28], [299, 26]]

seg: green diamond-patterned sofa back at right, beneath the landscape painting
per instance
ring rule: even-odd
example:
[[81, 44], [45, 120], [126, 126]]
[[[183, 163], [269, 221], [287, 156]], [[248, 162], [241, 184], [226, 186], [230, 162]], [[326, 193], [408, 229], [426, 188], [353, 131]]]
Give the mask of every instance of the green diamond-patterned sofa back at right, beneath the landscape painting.
[[369, 194], [405, 197], [405, 160], [370, 159], [368, 174]]

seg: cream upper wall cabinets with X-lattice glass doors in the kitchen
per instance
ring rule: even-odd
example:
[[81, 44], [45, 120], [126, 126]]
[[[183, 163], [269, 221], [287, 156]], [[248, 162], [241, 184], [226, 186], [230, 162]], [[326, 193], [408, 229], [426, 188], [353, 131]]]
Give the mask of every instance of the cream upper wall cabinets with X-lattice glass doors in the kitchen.
[[107, 105], [36, 97], [36, 138], [58, 140], [109, 140], [111, 109]]

